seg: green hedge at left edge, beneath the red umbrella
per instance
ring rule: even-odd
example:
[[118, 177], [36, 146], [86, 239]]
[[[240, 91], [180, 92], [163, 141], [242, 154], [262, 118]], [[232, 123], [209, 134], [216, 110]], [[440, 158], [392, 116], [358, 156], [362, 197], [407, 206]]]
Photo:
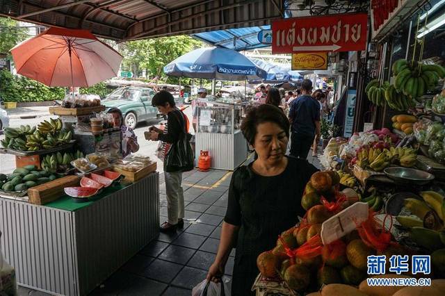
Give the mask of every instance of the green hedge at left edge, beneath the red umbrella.
[[63, 88], [49, 88], [38, 81], [4, 70], [0, 71], [0, 81], [0, 97], [4, 101], [53, 101], [65, 96]]

